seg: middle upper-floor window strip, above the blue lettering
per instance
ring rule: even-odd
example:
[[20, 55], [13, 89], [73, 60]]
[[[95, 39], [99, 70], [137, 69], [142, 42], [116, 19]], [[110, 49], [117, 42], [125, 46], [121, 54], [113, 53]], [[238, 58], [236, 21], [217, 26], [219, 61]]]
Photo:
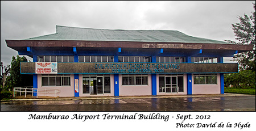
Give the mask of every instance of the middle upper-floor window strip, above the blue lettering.
[[148, 56], [118, 56], [118, 62], [150, 62]]

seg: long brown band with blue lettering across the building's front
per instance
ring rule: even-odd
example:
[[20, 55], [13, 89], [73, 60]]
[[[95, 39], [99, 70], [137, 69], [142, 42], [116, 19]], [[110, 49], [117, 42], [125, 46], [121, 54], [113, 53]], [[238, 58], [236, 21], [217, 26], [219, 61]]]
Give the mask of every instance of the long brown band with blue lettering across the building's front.
[[[37, 62], [49, 64], [43, 69], [35, 62], [20, 62], [23, 74], [151, 74], [151, 73], [238, 73], [237, 63], [125, 63], [125, 62]], [[50, 66], [51, 65], [51, 66]], [[37, 66], [37, 67], [35, 67]], [[46, 66], [46, 65], [44, 65]], [[38, 69], [40, 68], [40, 69]], [[51, 72], [50, 72], [51, 71]]]

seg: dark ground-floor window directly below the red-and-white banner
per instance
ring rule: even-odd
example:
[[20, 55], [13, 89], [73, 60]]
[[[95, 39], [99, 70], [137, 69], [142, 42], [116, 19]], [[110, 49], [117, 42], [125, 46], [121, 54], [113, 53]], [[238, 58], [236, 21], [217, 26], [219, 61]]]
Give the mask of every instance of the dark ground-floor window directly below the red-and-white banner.
[[42, 86], [71, 86], [70, 74], [42, 74]]

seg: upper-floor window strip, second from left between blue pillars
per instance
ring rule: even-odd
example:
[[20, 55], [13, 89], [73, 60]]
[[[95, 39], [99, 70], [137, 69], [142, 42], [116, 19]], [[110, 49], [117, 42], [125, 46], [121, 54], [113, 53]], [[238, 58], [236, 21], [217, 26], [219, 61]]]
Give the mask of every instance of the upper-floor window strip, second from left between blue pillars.
[[79, 62], [114, 62], [113, 56], [79, 56]]

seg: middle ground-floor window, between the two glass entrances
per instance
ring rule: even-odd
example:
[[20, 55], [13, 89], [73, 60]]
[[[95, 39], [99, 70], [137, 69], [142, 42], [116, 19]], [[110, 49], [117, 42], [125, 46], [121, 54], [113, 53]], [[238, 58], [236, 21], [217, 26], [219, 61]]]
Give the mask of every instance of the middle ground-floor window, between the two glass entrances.
[[147, 74], [122, 74], [122, 85], [148, 85]]

